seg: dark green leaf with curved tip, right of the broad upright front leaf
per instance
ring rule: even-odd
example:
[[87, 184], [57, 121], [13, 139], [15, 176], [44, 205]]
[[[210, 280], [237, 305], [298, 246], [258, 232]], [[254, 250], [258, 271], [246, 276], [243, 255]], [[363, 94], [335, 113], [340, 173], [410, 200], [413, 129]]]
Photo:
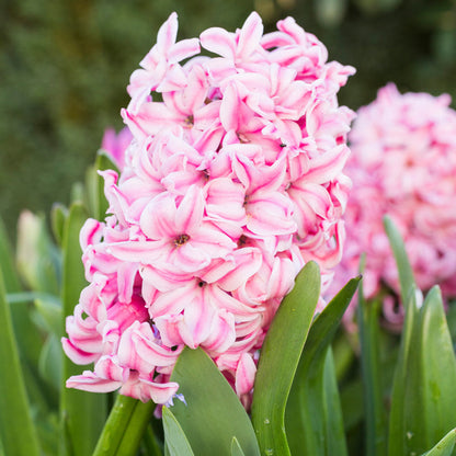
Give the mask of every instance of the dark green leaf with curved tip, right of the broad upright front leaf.
[[351, 280], [310, 327], [286, 409], [292, 454], [346, 455], [342, 410], [329, 347], [358, 282], [360, 277]]

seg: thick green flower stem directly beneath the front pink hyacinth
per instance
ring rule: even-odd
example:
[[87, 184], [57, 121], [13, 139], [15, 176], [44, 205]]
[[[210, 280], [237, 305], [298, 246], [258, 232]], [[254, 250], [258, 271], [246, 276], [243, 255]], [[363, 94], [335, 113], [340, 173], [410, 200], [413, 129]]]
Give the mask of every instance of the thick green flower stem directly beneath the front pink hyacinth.
[[155, 407], [117, 395], [92, 456], [135, 456]]

